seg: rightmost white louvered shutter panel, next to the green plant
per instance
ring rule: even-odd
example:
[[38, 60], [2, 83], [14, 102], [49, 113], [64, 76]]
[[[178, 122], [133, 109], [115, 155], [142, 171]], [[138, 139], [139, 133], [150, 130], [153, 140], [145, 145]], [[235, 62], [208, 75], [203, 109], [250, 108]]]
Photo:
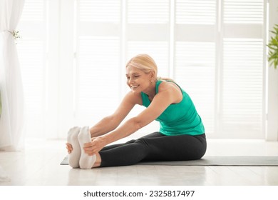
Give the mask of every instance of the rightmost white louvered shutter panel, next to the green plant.
[[223, 5], [221, 132], [230, 138], [263, 138], [264, 1]]

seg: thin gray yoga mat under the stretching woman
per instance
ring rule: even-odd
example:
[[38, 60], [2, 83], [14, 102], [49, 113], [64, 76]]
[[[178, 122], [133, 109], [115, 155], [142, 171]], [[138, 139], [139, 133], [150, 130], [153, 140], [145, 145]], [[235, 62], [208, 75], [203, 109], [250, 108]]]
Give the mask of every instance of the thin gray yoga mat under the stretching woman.
[[[66, 156], [61, 165], [68, 165]], [[204, 156], [194, 161], [141, 162], [138, 165], [166, 166], [278, 166], [278, 156]]]

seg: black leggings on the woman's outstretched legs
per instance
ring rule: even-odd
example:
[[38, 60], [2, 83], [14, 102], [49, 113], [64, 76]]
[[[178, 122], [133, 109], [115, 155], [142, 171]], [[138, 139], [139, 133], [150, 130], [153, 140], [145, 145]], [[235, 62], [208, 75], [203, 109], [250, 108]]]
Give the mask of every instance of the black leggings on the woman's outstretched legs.
[[155, 132], [124, 144], [105, 146], [101, 166], [126, 166], [140, 161], [187, 161], [200, 159], [207, 149], [205, 134], [165, 136]]

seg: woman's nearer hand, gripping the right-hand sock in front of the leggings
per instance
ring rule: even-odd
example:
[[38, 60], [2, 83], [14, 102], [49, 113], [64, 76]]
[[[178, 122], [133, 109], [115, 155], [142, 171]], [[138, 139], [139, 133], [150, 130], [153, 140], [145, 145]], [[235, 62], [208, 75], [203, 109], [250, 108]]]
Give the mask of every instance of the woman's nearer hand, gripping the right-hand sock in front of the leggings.
[[94, 137], [91, 142], [84, 144], [83, 148], [86, 154], [93, 156], [98, 153], [106, 145], [105, 138], [103, 136]]

